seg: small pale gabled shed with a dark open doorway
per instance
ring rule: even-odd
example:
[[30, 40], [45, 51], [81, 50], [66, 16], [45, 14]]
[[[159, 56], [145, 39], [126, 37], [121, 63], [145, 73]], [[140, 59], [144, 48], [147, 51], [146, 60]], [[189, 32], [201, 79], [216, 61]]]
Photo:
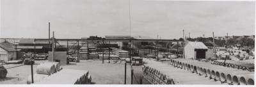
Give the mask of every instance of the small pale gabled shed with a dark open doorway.
[[187, 42], [184, 47], [185, 58], [205, 59], [207, 49], [202, 42]]

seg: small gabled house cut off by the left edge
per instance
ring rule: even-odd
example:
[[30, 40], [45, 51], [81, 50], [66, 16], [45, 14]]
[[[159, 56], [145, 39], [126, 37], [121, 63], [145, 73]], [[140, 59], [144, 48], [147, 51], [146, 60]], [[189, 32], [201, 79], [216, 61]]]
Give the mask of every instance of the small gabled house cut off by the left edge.
[[10, 61], [17, 58], [15, 45], [10, 42], [0, 43], [0, 60]]

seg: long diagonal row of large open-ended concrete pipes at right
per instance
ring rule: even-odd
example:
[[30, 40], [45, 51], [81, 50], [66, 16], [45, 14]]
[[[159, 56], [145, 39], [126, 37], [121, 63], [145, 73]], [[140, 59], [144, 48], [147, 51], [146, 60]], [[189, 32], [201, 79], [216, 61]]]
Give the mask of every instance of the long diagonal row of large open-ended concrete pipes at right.
[[202, 61], [192, 59], [171, 59], [171, 65], [177, 68], [185, 69], [199, 75], [234, 85], [254, 85], [254, 72], [247, 70], [238, 70], [235, 68], [212, 65]]

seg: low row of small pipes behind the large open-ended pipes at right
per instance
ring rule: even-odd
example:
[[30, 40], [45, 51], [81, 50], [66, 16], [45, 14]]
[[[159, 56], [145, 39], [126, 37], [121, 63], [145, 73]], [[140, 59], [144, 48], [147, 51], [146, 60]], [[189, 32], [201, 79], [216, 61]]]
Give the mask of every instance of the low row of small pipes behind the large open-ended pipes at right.
[[[224, 61], [225, 60], [214, 60], [212, 64], [224, 66]], [[254, 59], [250, 59], [250, 61], [248, 62], [254, 62]], [[243, 61], [226, 60], [225, 66], [242, 69], [242, 70], [254, 71], [254, 63], [246, 63], [246, 61], [243, 62]]]

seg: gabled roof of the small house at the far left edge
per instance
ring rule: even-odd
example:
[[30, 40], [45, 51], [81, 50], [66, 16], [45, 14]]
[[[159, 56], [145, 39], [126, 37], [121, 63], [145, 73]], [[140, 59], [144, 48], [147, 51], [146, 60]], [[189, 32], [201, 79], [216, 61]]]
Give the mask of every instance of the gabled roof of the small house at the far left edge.
[[2, 42], [0, 43], [0, 47], [2, 49], [4, 49], [5, 51], [16, 51], [15, 49], [15, 45], [13, 43], [10, 43], [10, 42]]

